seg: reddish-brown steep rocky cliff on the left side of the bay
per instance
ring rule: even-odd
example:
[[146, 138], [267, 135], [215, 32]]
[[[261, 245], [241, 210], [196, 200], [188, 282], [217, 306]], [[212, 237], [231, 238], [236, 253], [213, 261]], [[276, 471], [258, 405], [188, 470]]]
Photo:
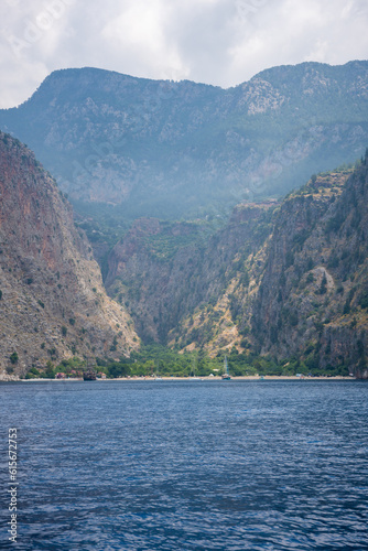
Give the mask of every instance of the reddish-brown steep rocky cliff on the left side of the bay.
[[33, 153], [0, 132], [0, 378], [137, 347], [71, 206]]

